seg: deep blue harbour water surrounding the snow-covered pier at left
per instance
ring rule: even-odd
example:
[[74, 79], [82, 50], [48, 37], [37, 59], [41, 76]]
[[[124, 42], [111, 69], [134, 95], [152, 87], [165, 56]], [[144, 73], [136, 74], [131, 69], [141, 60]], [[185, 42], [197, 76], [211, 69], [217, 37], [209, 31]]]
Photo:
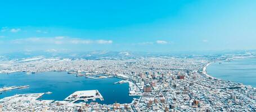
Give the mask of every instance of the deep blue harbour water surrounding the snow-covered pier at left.
[[66, 72], [42, 72], [35, 74], [26, 74], [17, 72], [11, 74], [0, 74], [0, 87], [3, 86], [23, 86], [29, 85], [29, 88], [21, 90], [11, 90], [3, 92], [0, 99], [15, 94], [29, 94], [51, 91], [50, 95], [43, 95], [43, 100], [64, 100], [75, 91], [98, 90], [104, 97], [104, 101], [98, 101], [100, 104], [121, 104], [131, 103], [132, 96], [129, 96], [128, 83], [113, 84], [120, 81], [119, 78], [101, 78], [91, 79], [85, 77], [75, 77]]

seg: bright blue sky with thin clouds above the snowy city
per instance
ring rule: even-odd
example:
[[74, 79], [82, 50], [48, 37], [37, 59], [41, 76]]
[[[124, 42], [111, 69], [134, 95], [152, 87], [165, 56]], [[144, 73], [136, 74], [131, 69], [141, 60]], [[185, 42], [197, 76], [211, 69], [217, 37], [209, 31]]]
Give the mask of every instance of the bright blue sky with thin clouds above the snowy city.
[[0, 1], [0, 53], [256, 49], [256, 1]]

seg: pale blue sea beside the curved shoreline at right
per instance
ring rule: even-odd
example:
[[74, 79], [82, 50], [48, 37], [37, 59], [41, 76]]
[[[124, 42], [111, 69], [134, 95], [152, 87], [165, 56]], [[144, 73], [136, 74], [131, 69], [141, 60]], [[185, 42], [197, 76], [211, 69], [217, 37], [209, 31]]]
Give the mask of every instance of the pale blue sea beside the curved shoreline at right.
[[231, 62], [210, 64], [206, 69], [210, 76], [256, 87], [256, 58], [235, 59]]

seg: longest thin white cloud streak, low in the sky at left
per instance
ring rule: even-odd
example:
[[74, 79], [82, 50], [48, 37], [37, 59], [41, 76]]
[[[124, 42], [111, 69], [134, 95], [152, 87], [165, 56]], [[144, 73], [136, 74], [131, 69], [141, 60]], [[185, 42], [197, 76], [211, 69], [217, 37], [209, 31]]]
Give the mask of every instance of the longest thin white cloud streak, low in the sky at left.
[[11, 41], [15, 44], [34, 43], [34, 44], [112, 44], [112, 40], [86, 40], [79, 38], [68, 38], [56, 36], [54, 38], [25, 38]]

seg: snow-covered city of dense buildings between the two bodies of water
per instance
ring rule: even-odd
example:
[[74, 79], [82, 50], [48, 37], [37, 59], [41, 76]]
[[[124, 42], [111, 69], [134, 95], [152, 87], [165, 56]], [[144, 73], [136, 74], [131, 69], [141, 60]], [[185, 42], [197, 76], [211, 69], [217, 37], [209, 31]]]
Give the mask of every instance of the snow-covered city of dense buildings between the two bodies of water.
[[[2, 59], [0, 72], [67, 72], [74, 77], [118, 77], [118, 83], [129, 83], [129, 95], [140, 96], [131, 103], [98, 104], [100, 92], [77, 91], [63, 101], [37, 100], [46, 93], [21, 94], [0, 100], [2, 111], [255, 111], [256, 89], [241, 83], [225, 81], [206, 74], [206, 66], [219, 58], [141, 57], [136, 59], [67, 59], [33, 57]], [[232, 55], [234, 58], [254, 55]], [[94, 80], [97, 80], [94, 79]], [[16, 85], [22, 86], [22, 85]], [[30, 85], [33, 86], [33, 85]], [[0, 89], [1, 90], [1, 89]], [[97, 91], [97, 90], [92, 90]], [[8, 91], [6, 91], [8, 92]], [[80, 94], [78, 94], [78, 92]], [[85, 92], [83, 94], [83, 92]], [[83, 96], [84, 95], [84, 96]], [[77, 98], [76, 98], [77, 97]], [[94, 99], [75, 103], [74, 100]]]

